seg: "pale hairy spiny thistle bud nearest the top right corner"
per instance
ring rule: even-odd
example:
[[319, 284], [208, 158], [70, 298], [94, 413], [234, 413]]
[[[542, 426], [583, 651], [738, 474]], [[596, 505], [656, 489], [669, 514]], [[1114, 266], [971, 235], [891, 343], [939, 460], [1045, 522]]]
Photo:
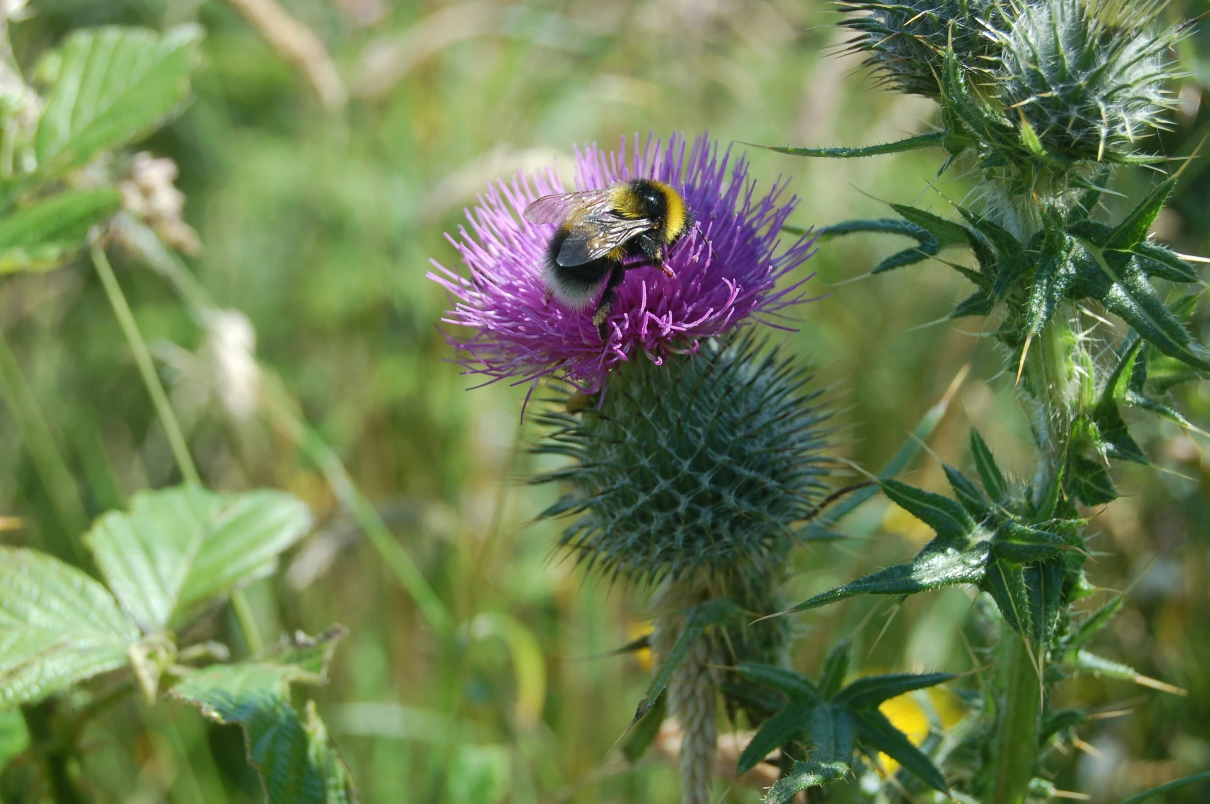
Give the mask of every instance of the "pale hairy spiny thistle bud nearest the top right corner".
[[1159, 0], [1014, 0], [1002, 46], [999, 100], [1022, 140], [1060, 163], [1123, 162], [1172, 108]]

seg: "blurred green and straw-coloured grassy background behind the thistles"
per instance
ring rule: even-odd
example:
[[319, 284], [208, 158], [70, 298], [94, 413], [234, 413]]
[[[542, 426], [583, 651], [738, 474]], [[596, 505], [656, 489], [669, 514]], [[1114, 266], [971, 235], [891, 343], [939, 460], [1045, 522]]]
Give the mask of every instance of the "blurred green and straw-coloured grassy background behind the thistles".
[[[313, 762], [332, 762], [329, 739], [339, 745], [365, 802], [669, 800], [676, 791], [670, 764], [651, 753], [630, 767], [621, 750], [610, 751], [650, 679], [633, 656], [603, 654], [641, 631], [646, 601], [624, 588], [584, 584], [574, 562], [552, 553], [560, 524], [535, 517], [558, 492], [517, 481], [558, 462], [524, 449], [538, 430], [532, 420], [518, 422], [523, 391], [465, 391], [473, 383], [446, 361], [434, 326], [446, 299], [425, 280], [427, 260], [454, 262], [442, 233], [459, 225], [461, 208], [490, 179], [555, 158], [565, 168], [575, 143], [709, 129], [724, 143], [876, 144], [929, 131], [935, 106], [874, 88], [857, 69], [859, 57], [837, 57], [851, 34], [832, 27], [841, 15], [820, 0], [284, 6], [327, 46], [348, 92], [345, 105], [321, 103], [307, 74], [266, 45], [236, 4], [221, 0], [40, 0], [11, 25], [17, 62], [44, 81], [86, 57], [68, 47], [58, 63], [42, 59], [64, 37], [70, 42], [73, 29], [200, 27], [201, 66], [179, 117], [148, 137], [123, 117], [129, 110], [110, 109], [97, 128], [64, 125], [40, 134], [38, 151], [50, 162], [77, 163], [108, 127], [105, 138], [120, 132], [138, 149], [175, 160], [185, 220], [202, 243], [186, 261], [204, 294], [248, 317], [258, 354], [281, 377], [283, 399], [296, 404], [312, 435], [332, 445], [388, 537], [459, 624], [449, 634], [434, 627], [440, 619], [432, 601], [417, 606], [404, 591], [373, 546], [374, 533], [338, 501], [330, 464], [315, 462], [322, 452], [294, 446], [287, 417], [270, 405], [247, 418], [224, 407], [204, 381], [215, 346], [191, 316], [192, 302], [183, 303], [163, 276], [115, 249], [119, 279], [207, 485], [286, 490], [317, 517], [316, 531], [286, 554], [283, 572], [247, 590], [266, 641], [296, 630], [318, 634], [333, 621], [348, 629], [328, 666], [330, 683], [306, 689], [322, 723], [290, 705], [286, 683], [295, 678], [275, 665], [215, 665], [212, 672], [224, 684], [254, 688], [266, 708], [283, 712], [288, 728], [301, 729], [315, 747]], [[1202, 11], [1197, 0], [1183, 6], [1174, 4], [1165, 15]], [[1189, 77], [1176, 87], [1182, 103], [1175, 131], [1157, 143], [1177, 156], [1191, 154], [1210, 131], [1210, 110], [1200, 104], [1203, 87], [1210, 88], [1210, 35], [1181, 42], [1180, 56]], [[171, 97], [171, 86], [154, 83], [156, 75], [131, 80]], [[104, 88], [98, 93], [104, 97]], [[934, 190], [920, 191], [935, 177], [930, 151], [845, 161], [750, 156], [764, 181], [791, 177], [803, 199], [791, 222], [801, 226], [889, 218], [887, 202], [952, 219], [946, 198], [961, 202], [968, 190], [963, 177], [946, 174]], [[1152, 229], [1181, 253], [1210, 255], [1205, 163], [1189, 164]], [[1113, 215], [1105, 220], [1120, 219], [1154, 186], [1146, 169], [1123, 173], [1116, 187], [1123, 196], [1106, 199]], [[69, 204], [54, 214], [63, 226], [53, 233], [65, 245], [31, 253], [0, 229], [0, 274], [58, 265], [115, 199], [76, 190], [54, 202]], [[871, 469], [892, 458], [964, 365], [974, 365], [972, 377], [993, 377], [1001, 368], [989, 332], [969, 329], [979, 319], [944, 320], [969, 295], [969, 284], [944, 265], [930, 260], [847, 282], [905, 244], [895, 235], [825, 243], [806, 270], [818, 272], [812, 285], [830, 295], [801, 310], [799, 332], [778, 336], [834, 383], [837, 450]], [[957, 250], [940, 255], [964, 259]], [[1203, 342], [1210, 340], [1208, 324], [1204, 311], [1193, 311], [1192, 329]], [[0, 328], [65, 461], [68, 482], [83, 501], [77, 519], [138, 510], [143, 490], [180, 482], [168, 435], [87, 254], [47, 273], [0, 277]], [[82, 540], [86, 522], [63, 515], [62, 487], [39, 474], [39, 446], [17, 426], [25, 392], [12, 382], [11, 365], [0, 353], [0, 515], [24, 525], [0, 538], [79, 566], [74, 572], [94, 579], [90, 594], [108, 595], [99, 586], [104, 562], [91, 563]], [[1163, 381], [1154, 371], [1150, 377]], [[957, 388], [929, 440], [941, 461], [978, 474], [968, 451], [975, 426], [1008, 474], [1027, 472], [1031, 440], [1012, 382], [999, 375]], [[1175, 401], [1192, 423], [1210, 429], [1206, 393], [1193, 383]], [[1140, 688], [1111, 672], [1060, 684], [1062, 699], [1130, 710], [1076, 727], [1104, 759], [1074, 756], [1056, 768], [1058, 787], [1084, 789], [1100, 802], [1210, 768], [1206, 440], [1150, 420], [1131, 427], [1131, 435], [1163, 470], [1117, 464], [1114, 485], [1125, 496], [1093, 509], [1090, 579], [1130, 591], [1089, 647], [1189, 695]], [[917, 459], [900, 478], [951, 493], [935, 459]], [[933, 537], [882, 496], [837, 530], [853, 538], [819, 540], [794, 554], [788, 600], [805, 601], [906, 561]], [[93, 551], [98, 538], [94, 532]], [[111, 588], [117, 591], [116, 583]], [[1111, 597], [1091, 597], [1089, 611]], [[108, 606], [115, 644], [136, 640], [132, 621], [113, 601]], [[820, 677], [828, 649], [842, 638], [852, 644], [849, 679], [972, 670], [964, 643], [987, 635], [963, 631], [970, 606], [966, 590], [950, 588], [901, 607], [894, 598], [855, 597], [795, 615], [803, 636], [795, 670]], [[221, 640], [237, 659], [247, 656], [226, 609], [198, 627], [197, 640]], [[125, 648], [90, 650], [79, 660], [113, 666]], [[224, 711], [220, 689], [215, 683], [203, 695], [178, 688], [182, 702], [157, 707], [131, 699], [94, 719], [82, 735], [91, 746], [82, 759], [91, 792], [99, 800], [260, 800], [238, 723], [258, 727]], [[203, 722], [194, 704], [229, 724]], [[19, 753], [22, 731], [19, 718], [0, 712], [0, 763]], [[0, 799], [25, 800], [13, 797], [33, 771], [28, 754], [7, 762]], [[834, 785], [829, 794], [860, 798], [857, 783]], [[732, 796], [757, 798], [742, 787]], [[1191, 786], [1152, 800], [1204, 796], [1204, 786]]]

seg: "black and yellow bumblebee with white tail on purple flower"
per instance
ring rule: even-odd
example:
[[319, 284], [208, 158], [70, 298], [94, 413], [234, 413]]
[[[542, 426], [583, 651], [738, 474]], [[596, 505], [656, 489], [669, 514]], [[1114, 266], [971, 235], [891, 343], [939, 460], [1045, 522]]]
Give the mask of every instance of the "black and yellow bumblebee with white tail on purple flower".
[[680, 192], [653, 179], [542, 196], [523, 214], [531, 224], [558, 225], [542, 277], [559, 301], [584, 310], [604, 288], [593, 313], [603, 341], [605, 318], [627, 270], [650, 265], [675, 277], [664, 256], [693, 224]]

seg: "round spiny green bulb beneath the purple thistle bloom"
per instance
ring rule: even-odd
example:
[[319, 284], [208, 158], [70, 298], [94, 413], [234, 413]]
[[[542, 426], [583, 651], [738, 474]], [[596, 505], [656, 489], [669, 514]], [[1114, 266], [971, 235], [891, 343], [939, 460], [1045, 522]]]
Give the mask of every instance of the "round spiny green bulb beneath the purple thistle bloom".
[[653, 582], [764, 568], [819, 499], [826, 462], [819, 391], [793, 359], [744, 336], [657, 366], [634, 360], [600, 406], [551, 412], [540, 452], [571, 458], [536, 482], [578, 514], [561, 544], [610, 575]]

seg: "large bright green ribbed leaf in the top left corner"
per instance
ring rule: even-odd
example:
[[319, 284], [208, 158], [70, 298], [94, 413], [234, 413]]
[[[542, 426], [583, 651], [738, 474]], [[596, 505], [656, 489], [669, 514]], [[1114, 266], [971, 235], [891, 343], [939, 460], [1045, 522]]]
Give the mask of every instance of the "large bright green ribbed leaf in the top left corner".
[[201, 39], [197, 25], [69, 34], [34, 137], [39, 173], [59, 173], [159, 127], [189, 96]]

